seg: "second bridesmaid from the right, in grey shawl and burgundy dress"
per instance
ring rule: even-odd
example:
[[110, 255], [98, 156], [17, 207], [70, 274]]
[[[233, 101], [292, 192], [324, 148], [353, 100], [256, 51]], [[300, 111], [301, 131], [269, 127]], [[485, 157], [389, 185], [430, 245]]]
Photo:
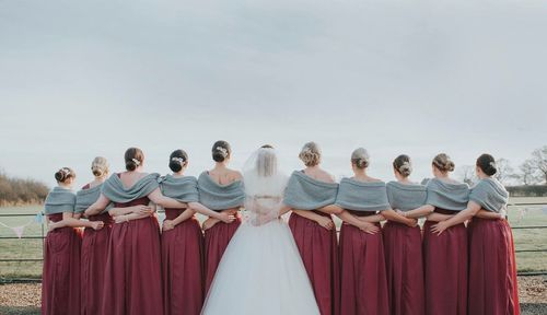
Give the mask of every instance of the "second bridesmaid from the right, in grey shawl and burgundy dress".
[[[427, 184], [426, 205], [403, 212], [407, 218], [428, 215], [423, 224], [426, 314], [465, 315], [467, 312], [467, 230], [455, 224], [441, 235], [431, 228], [467, 207], [469, 186], [452, 179], [454, 162], [444, 153], [432, 162], [434, 178]], [[408, 268], [405, 267], [405, 271]]]

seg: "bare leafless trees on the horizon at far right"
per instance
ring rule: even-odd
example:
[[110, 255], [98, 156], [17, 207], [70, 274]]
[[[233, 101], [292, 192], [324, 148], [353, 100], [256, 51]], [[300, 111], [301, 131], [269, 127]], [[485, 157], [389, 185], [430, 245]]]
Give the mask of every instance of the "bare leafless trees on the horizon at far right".
[[[503, 158], [496, 161], [496, 166], [498, 167], [498, 173], [494, 177], [505, 186], [545, 186], [547, 185], [547, 145], [534, 150], [531, 156], [520, 164], [516, 170], [511, 165], [509, 160]], [[475, 166], [463, 165], [458, 168], [458, 174], [463, 182], [469, 185], [477, 182]], [[520, 194], [524, 194], [523, 191], [525, 190], [528, 190], [528, 188], [517, 189]], [[545, 191], [545, 189], [537, 188], [533, 195], [539, 194], [539, 191]]]

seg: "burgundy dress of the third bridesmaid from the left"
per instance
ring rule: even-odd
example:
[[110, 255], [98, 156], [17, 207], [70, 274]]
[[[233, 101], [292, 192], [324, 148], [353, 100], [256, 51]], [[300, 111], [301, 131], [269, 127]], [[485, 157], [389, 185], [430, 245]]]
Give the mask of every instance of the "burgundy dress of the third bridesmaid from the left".
[[[116, 208], [148, 205], [148, 197]], [[115, 223], [108, 242], [102, 314], [163, 314], [160, 225], [155, 217]]]

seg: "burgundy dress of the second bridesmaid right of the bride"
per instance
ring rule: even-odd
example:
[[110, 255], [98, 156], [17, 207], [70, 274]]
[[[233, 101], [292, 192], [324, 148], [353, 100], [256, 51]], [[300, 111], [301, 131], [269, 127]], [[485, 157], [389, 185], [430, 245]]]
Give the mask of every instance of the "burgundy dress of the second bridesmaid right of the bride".
[[[349, 211], [354, 215], [375, 212]], [[380, 223], [376, 223], [380, 228]], [[340, 229], [340, 314], [389, 314], [382, 232], [374, 235], [344, 223]]]

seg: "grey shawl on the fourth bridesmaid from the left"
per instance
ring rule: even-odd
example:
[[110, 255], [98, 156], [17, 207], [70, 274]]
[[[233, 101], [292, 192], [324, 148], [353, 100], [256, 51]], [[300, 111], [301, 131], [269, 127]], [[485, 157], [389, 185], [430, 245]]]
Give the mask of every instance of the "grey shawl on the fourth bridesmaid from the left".
[[198, 179], [194, 176], [175, 177], [166, 175], [160, 177], [160, 188], [163, 196], [171, 197], [181, 202], [198, 202]]

